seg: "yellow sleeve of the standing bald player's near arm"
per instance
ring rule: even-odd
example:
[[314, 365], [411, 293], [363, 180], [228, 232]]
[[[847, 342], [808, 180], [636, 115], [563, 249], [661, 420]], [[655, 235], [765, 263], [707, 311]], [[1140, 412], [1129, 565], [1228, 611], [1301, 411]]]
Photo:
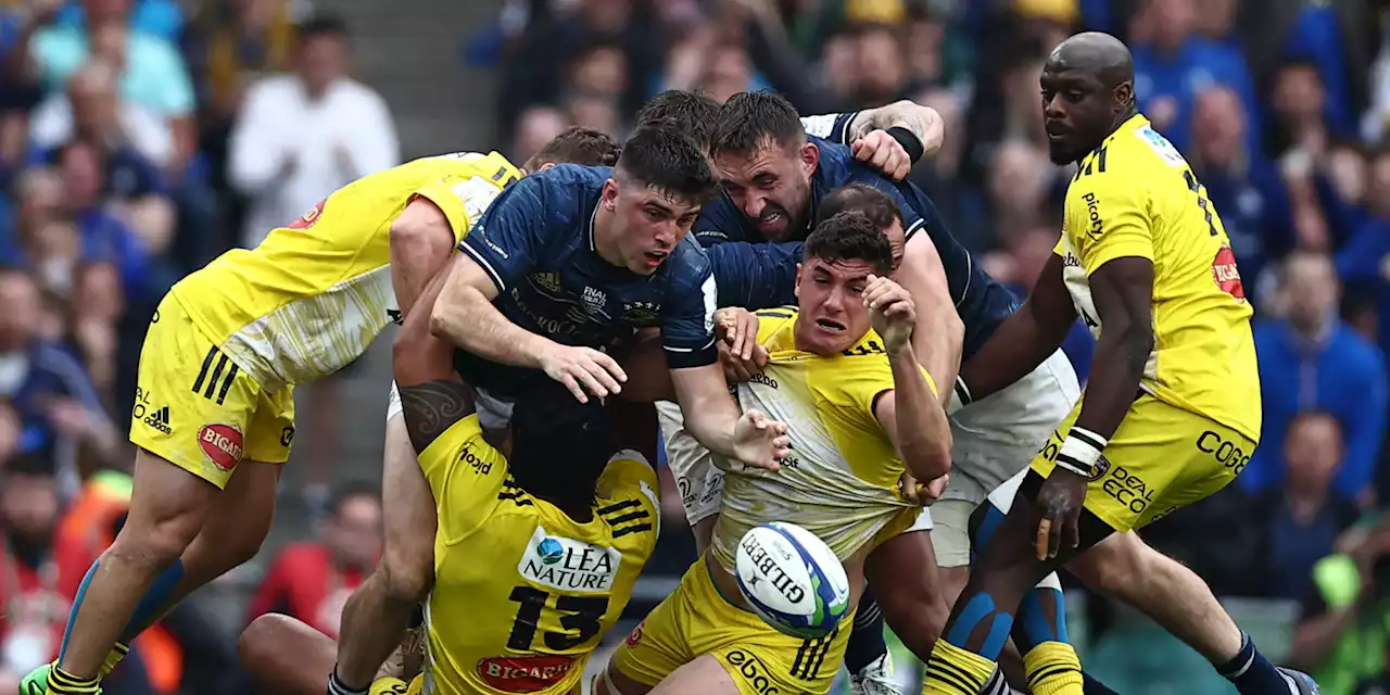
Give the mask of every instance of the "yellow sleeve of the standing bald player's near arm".
[[1066, 227], [1093, 274], [1115, 259], [1154, 259], [1147, 188], [1115, 172], [1083, 175], [1066, 190]]

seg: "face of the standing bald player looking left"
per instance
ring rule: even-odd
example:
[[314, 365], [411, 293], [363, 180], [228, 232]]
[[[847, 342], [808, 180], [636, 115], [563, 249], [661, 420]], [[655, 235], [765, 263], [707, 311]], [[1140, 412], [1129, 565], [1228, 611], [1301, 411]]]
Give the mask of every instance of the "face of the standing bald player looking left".
[[1055, 54], [1042, 67], [1042, 118], [1054, 164], [1070, 164], [1101, 146], [1115, 121], [1116, 95]]

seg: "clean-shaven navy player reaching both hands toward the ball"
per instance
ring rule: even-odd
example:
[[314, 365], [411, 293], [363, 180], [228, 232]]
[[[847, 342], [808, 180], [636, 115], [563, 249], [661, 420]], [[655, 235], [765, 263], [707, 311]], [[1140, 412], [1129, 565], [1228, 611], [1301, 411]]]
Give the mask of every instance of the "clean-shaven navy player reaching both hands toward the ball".
[[506, 403], [546, 378], [581, 403], [621, 391], [603, 348], [660, 327], [688, 427], [709, 449], [777, 468], [785, 425], [739, 414], [714, 348], [714, 278], [688, 238], [717, 182], [671, 128], [644, 128], [613, 168], [560, 165], [498, 197], [459, 246], [432, 329], [460, 373]]

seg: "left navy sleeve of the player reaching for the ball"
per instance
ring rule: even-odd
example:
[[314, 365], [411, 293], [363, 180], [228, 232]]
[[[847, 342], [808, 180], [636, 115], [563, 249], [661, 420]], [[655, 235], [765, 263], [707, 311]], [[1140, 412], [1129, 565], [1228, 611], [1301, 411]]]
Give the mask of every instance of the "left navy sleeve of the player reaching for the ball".
[[510, 289], [535, 265], [546, 218], [557, 213], [548, 207], [550, 197], [542, 177], [521, 179], [496, 197], [459, 245], [486, 271], [498, 292]]

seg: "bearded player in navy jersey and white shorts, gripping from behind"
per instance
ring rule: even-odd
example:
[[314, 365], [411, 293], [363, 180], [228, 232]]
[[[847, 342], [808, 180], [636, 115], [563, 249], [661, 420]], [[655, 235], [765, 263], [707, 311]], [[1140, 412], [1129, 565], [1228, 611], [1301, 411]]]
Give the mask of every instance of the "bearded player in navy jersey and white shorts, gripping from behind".
[[[924, 327], [913, 336], [919, 354], [934, 360], [926, 364], [927, 371], [938, 382], [954, 382], [958, 366], [955, 354], [960, 360], [969, 360], [979, 350], [998, 324], [1013, 311], [1013, 295], [972, 261], [922, 190], [865, 170], [841, 146], [815, 138], [808, 142], [795, 118], [792, 107], [770, 93], [737, 95], [720, 115], [721, 132], [716, 133], [713, 149], [716, 170], [724, 179], [727, 193], [706, 206], [696, 225], [696, 235], [712, 259], [719, 253], [738, 253], [745, 259], [735, 263], [770, 268], [760, 286], [742, 288], [752, 295], [721, 296], [720, 303], [741, 303], [753, 309], [787, 303], [791, 292], [788, 268], [792, 264], [777, 261], [777, 249], [787, 250], [795, 259], [799, 249], [792, 242], [805, 236], [805, 228], [816, 218], [823, 196], [847, 183], [867, 183], [894, 199], [906, 225], [908, 240], [902, 252], [899, 281], [919, 302], [949, 292], [956, 306], [959, 317], [927, 317], [942, 325], [930, 329]], [[917, 234], [923, 229], [926, 234]], [[780, 243], [769, 247], [769, 240]], [[724, 246], [731, 249], [726, 250]], [[783, 270], [778, 271], [778, 265]], [[720, 281], [720, 289], [727, 288], [719, 275], [716, 279]], [[947, 321], [963, 321], [963, 341], [958, 353], [951, 350], [949, 338], [960, 336], [959, 328]], [[934, 523], [933, 550], [935, 563], [942, 569], [940, 591], [948, 603], [963, 587], [969, 570], [970, 513], [984, 500], [987, 491], [1006, 481], [1031, 459], [1079, 392], [1070, 363], [1056, 350], [1026, 378], [995, 398], [963, 409], [959, 407], [959, 399], [952, 400], [952, 410], [956, 410], [952, 413], [952, 484], [942, 499], [933, 505], [930, 517], [923, 514], [922, 524], [922, 528], [927, 528]], [[944, 398], [952, 398], [952, 393], [948, 391]], [[684, 477], [681, 492], [687, 503], [687, 518], [701, 542], [709, 538], [714, 523], [723, 473], [680, 431], [678, 410], [670, 406], [659, 406], [659, 410], [671, 473], [678, 477], [678, 482]], [[899, 562], [910, 560], [902, 557]], [[913, 578], [926, 581], [924, 575]], [[866, 599], [863, 605], [870, 602]], [[872, 616], [873, 610], [866, 609], [865, 614]], [[856, 637], [852, 653], [847, 657], [851, 669], [869, 673], [887, 670], [887, 646], [880, 627], [863, 626], [860, 632], [865, 637], [862, 641]], [[930, 638], [934, 639], [935, 634]], [[878, 684], [887, 687], [887, 680], [881, 678]]]

